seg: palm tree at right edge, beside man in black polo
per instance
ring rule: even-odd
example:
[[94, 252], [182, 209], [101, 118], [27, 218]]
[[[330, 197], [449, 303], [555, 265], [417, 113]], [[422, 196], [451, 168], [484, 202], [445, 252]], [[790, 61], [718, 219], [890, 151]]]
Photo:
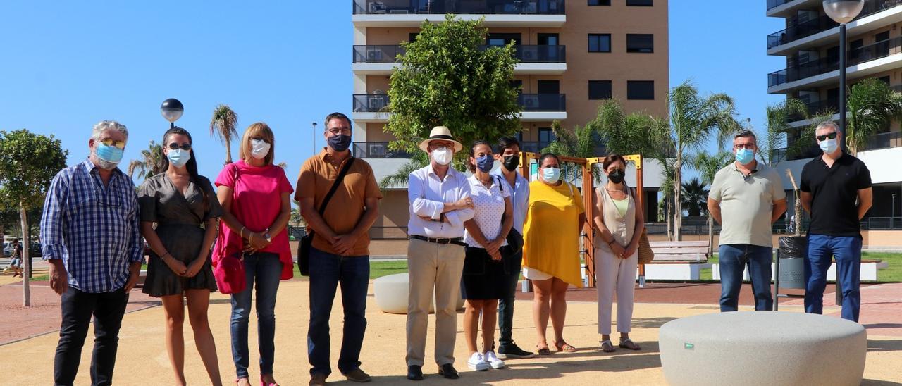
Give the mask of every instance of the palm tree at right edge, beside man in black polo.
[[852, 155], [863, 149], [872, 135], [902, 118], [902, 94], [877, 78], [867, 78], [852, 86], [847, 106], [845, 141]]

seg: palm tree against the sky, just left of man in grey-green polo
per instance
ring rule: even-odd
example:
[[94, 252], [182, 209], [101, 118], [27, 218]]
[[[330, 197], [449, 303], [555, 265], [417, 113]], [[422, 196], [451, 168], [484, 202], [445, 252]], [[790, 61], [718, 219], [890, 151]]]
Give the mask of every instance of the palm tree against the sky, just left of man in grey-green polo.
[[735, 107], [732, 97], [726, 94], [714, 94], [710, 97], [698, 95], [698, 89], [689, 81], [670, 89], [667, 95], [670, 112], [671, 141], [674, 149], [674, 235], [676, 241], [683, 238], [682, 195], [683, 162], [687, 152], [698, 150], [708, 140], [714, 130], [719, 138], [725, 132], [740, 126], [736, 123]]

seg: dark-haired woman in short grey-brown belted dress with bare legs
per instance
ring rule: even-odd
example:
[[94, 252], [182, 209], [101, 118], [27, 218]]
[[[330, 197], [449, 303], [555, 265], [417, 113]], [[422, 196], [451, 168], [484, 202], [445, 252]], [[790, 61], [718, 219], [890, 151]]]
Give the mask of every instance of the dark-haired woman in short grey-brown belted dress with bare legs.
[[[194, 343], [214, 385], [221, 385], [216, 344], [207, 321], [216, 280], [210, 248], [222, 207], [210, 181], [198, 175], [191, 135], [180, 127], [163, 134], [164, 172], [138, 188], [141, 233], [151, 247], [143, 292], [161, 298], [166, 317], [166, 348], [178, 384], [185, 384], [184, 300]], [[155, 225], [155, 226], [154, 226]]]

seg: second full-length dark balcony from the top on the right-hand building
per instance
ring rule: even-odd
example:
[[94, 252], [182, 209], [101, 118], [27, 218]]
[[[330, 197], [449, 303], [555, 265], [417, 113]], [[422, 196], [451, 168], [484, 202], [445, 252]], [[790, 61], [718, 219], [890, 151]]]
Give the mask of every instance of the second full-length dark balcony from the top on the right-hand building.
[[[902, 48], [902, 37], [878, 41], [855, 50], [847, 51], [850, 77], [866, 76], [887, 69], [897, 68], [897, 53]], [[893, 57], [893, 59], [889, 59]], [[887, 59], [887, 60], [884, 60]], [[867, 63], [867, 64], [866, 64]], [[796, 66], [781, 69], [768, 74], [768, 92], [786, 92], [793, 87], [815, 87], [827, 84], [833, 77], [839, 76], [839, 58], [813, 60]], [[835, 71], [824, 77], [821, 75]], [[817, 77], [817, 78], [814, 78]], [[811, 78], [811, 79], [807, 79]], [[799, 82], [799, 80], [807, 79]], [[795, 84], [792, 84], [796, 82]], [[786, 85], [786, 86], [783, 86]], [[783, 86], [783, 87], [780, 87]]]

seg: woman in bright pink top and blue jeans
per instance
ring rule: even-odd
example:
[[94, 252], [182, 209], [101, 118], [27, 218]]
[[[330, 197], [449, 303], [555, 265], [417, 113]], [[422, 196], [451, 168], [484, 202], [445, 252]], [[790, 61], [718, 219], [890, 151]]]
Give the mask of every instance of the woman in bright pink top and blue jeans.
[[272, 164], [275, 141], [266, 124], [251, 124], [244, 131], [239, 157], [216, 178], [223, 208], [214, 263], [243, 257], [247, 286], [232, 294], [232, 357], [238, 385], [250, 385], [247, 366], [247, 322], [254, 283], [257, 289], [257, 331], [260, 345], [260, 381], [275, 384], [275, 306], [279, 280], [294, 272], [286, 226], [291, 213], [291, 183], [285, 171]]

